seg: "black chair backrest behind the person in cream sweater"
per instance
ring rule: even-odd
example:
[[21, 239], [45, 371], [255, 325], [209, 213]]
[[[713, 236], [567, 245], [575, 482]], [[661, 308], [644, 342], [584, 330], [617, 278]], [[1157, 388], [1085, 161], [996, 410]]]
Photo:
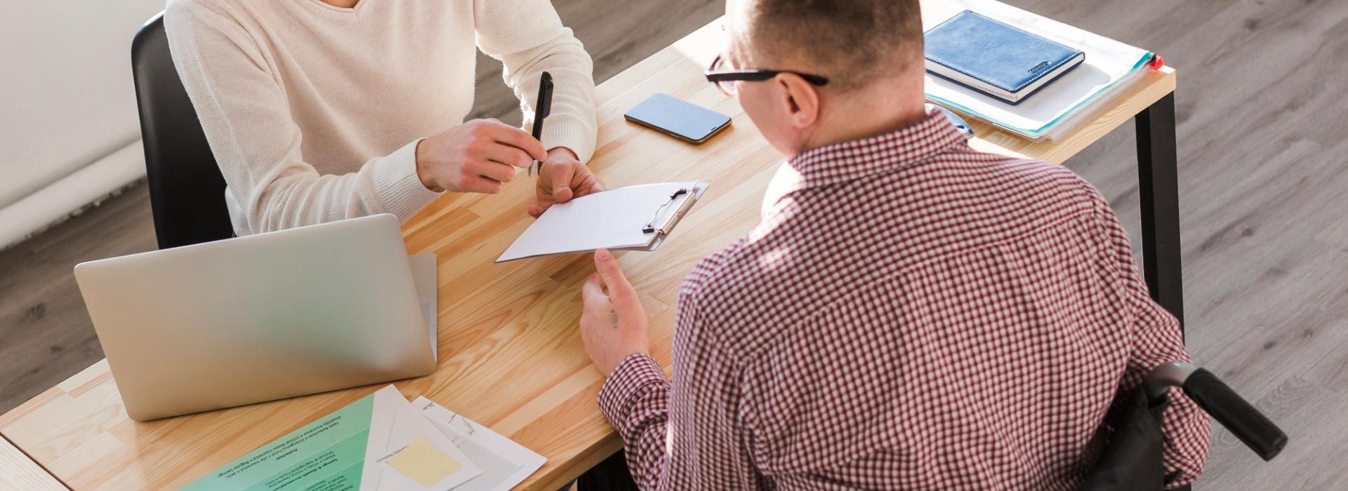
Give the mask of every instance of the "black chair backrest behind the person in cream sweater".
[[159, 249], [232, 237], [225, 179], [173, 66], [163, 13], [136, 32], [131, 69]]

